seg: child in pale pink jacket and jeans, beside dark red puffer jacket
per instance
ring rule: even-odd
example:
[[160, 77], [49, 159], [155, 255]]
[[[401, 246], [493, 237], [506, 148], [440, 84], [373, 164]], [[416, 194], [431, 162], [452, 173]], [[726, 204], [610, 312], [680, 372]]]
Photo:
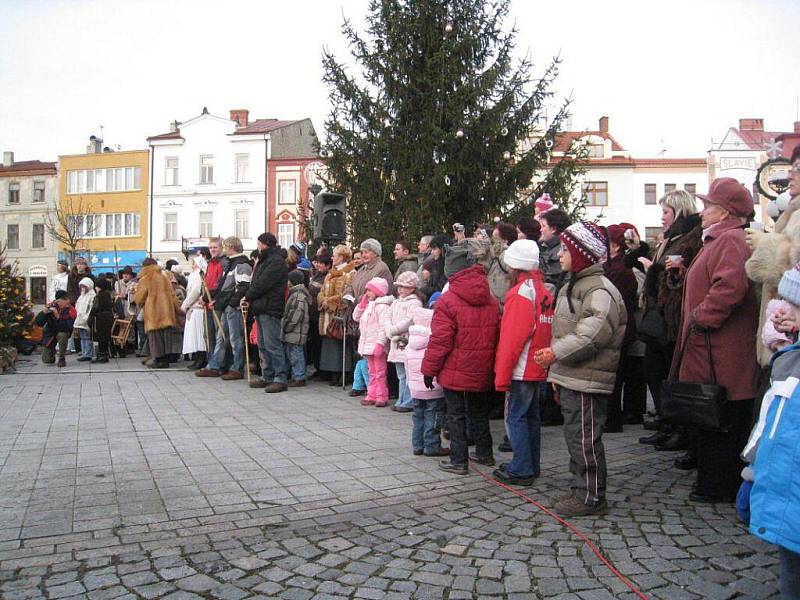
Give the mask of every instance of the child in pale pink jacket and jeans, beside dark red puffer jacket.
[[433, 389], [425, 387], [422, 359], [431, 337], [433, 311], [427, 308], [414, 310], [414, 324], [408, 330], [406, 346], [406, 377], [414, 404], [412, 415], [411, 446], [419, 456], [447, 456], [449, 448], [442, 448], [439, 432], [444, 420], [444, 390], [434, 380]]

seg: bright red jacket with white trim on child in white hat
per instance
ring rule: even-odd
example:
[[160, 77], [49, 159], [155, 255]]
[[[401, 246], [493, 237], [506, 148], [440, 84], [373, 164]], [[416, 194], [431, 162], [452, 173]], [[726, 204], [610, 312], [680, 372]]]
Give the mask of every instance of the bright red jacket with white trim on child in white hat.
[[494, 361], [494, 387], [507, 392], [511, 381], [546, 381], [547, 369], [533, 360], [548, 348], [553, 335], [553, 295], [538, 269], [520, 273], [508, 290], [500, 323], [500, 343]]

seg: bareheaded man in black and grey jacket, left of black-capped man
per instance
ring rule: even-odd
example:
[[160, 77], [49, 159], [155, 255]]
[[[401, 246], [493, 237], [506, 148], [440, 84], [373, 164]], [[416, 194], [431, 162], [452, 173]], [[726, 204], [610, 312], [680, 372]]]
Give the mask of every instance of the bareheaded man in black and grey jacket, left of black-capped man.
[[[225, 381], [242, 379], [249, 365], [244, 364], [244, 344], [247, 332], [242, 324], [239, 303], [250, 286], [253, 269], [250, 260], [242, 254], [242, 241], [237, 237], [226, 238], [223, 248], [228, 255], [228, 264], [214, 290], [214, 310], [221, 313], [222, 331], [217, 332], [214, 354], [204, 369], [195, 371], [197, 377], [219, 377]], [[230, 345], [233, 362], [230, 370], [222, 373], [225, 353]]]

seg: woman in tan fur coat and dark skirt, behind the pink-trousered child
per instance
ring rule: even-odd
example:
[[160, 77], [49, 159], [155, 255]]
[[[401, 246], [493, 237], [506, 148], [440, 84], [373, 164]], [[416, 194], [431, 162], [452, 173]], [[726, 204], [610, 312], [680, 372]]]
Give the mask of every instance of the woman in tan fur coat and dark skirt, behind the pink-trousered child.
[[[356, 265], [350, 262], [351, 257], [350, 248], [344, 244], [333, 249], [332, 266], [322, 282], [319, 294], [317, 294], [319, 334], [322, 336], [319, 368], [320, 371], [331, 374], [331, 385], [338, 383], [338, 377], [342, 372], [343, 343], [341, 339], [328, 336], [328, 327], [334, 322], [335, 317], [344, 318], [346, 316], [347, 307], [342, 296], [344, 289], [352, 282], [356, 270]], [[344, 352], [345, 370], [351, 371], [353, 357], [349, 340]]]

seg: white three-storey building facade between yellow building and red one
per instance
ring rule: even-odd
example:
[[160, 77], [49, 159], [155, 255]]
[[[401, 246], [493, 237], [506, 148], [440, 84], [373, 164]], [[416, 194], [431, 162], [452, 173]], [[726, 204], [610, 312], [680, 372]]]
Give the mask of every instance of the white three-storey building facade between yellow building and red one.
[[203, 113], [148, 138], [150, 239], [157, 259], [179, 258], [183, 238], [236, 236], [254, 249], [267, 219], [270, 136], [248, 131], [247, 111]]

